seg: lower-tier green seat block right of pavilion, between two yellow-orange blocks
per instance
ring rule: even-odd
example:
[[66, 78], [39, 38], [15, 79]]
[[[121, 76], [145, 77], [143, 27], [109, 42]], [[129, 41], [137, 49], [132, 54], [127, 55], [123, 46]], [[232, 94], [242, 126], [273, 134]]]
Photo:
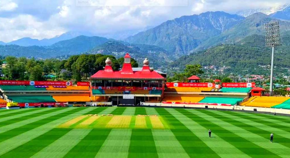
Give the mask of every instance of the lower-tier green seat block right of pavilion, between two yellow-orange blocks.
[[222, 98], [222, 97], [205, 97], [199, 103], [224, 103], [235, 105], [238, 101], [242, 101], [243, 98]]

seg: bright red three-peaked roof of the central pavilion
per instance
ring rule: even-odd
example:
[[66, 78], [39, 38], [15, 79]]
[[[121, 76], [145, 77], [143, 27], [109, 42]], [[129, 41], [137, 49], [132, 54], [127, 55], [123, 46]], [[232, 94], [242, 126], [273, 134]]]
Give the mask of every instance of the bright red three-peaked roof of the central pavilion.
[[[127, 53], [125, 57], [130, 57]], [[163, 76], [155, 71], [151, 71], [148, 65], [144, 65], [141, 71], [133, 71], [130, 63], [124, 63], [122, 70], [113, 71], [111, 65], [106, 65], [104, 70], [100, 70], [91, 76], [91, 79], [146, 79], [165, 80]]]

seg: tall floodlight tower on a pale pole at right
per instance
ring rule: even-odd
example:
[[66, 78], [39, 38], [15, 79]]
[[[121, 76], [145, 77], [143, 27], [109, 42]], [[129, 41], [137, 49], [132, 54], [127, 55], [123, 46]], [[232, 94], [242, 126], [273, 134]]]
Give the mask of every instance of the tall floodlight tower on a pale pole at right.
[[269, 22], [265, 24], [265, 40], [266, 46], [272, 47], [271, 59], [271, 77], [270, 77], [270, 96], [273, 96], [273, 62], [274, 62], [274, 47], [281, 45], [279, 22]]

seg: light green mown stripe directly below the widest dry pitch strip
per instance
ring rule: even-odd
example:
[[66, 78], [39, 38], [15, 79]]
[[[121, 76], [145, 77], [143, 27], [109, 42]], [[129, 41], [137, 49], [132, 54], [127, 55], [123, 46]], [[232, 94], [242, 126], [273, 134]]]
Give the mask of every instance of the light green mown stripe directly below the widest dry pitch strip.
[[112, 129], [95, 157], [127, 158], [132, 129]]

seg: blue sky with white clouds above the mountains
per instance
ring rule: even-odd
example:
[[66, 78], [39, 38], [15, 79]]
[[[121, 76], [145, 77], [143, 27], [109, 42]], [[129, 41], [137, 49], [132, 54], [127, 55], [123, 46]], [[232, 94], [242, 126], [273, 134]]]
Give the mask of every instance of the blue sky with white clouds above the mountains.
[[[67, 31], [142, 30], [182, 15], [270, 8], [288, 0], [0, 0], [0, 41], [52, 38]], [[99, 2], [99, 3], [97, 3]], [[106, 7], [103, 7], [106, 6]], [[154, 7], [152, 7], [154, 6]]]

